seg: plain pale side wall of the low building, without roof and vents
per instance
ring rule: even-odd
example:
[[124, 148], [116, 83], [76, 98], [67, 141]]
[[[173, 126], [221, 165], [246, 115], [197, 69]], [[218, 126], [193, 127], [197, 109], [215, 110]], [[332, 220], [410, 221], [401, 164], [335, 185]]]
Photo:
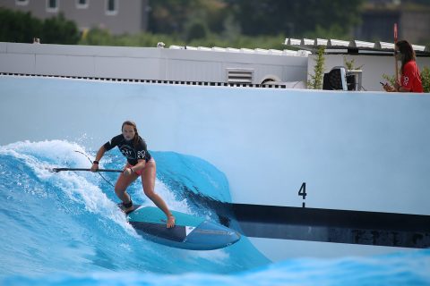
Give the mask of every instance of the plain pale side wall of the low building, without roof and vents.
[[305, 81], [307, 57], [155, 47], [33, 45], [0, 42], [0, 72], [135, 80], [227, 82], [228, 68]]

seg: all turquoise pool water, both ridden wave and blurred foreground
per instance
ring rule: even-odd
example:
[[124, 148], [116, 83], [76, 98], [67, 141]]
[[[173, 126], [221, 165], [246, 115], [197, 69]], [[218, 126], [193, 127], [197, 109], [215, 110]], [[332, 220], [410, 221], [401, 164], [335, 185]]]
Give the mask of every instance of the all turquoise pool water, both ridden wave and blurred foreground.
[[[288, 259], [272, 264], [246, 238], [228, 248], [168, 248], [137, 235], [116, 208], [113, 187], [90, 172], [93, 150], [65, 140], [0, 147], [0, 284], [4, 285], [430, 285], [430, 251], [383, 257]], [[210, 163], [172, 152], [151, 152], [157, 192], [175, 210], [217, 221], [197, 195], [230, 201], [228, 181]], [[101, 167], [120, 169], [116, 149]], [[151, 205], [140, 181], [133, 201]]]

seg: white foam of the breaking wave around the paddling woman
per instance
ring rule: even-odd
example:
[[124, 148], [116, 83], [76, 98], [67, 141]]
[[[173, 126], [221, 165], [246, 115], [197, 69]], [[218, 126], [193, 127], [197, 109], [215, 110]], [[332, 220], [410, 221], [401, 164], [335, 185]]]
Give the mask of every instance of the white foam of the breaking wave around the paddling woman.
[[[75, 142], [66, 140], [45, 140], [39, 142], [21, 141], [0, 147], [0, 154], [14, 156], [27, 164], [40, 180], [50, 181], [54, 186], [64, 191], [64, 194], [76, 203], [83, 203], [85, 209], [94, 214], [101, 214], [133, 231], [127, 223], [125, 215], [118, 210], [116, 203], [107, 198], [99, 188], [101, 178], [90, 172], [52, 172], [54, 167], [84, 167], [89, 168], [90, 163], [84, 147]], [[104, 160], [109, 161], [108, 157]], [[103, 167], [100, 164], [100, 167]], [[138, 179], [141, 191], [135, 191], [134, 201], [144, 202], [144, 206], [154, 206], [142, 189], [142, 181]], [[193, 214], [186, 203], [186, 199], [177, 201], [174, 193], [161, 181], [156, 180], [155, 191], [164, 199], [169, 209]], [[137, 197], [136, 197], [137, 196]]]

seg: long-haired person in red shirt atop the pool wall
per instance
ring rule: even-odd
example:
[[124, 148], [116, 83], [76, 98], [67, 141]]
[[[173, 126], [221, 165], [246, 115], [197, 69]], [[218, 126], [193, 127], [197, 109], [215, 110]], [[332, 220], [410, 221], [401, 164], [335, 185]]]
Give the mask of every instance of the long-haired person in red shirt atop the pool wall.
[[383, 89], [390, 92], [423, 92], [423, 84], [421, 82], [414, 49], [406, 40], [397, 42], [396, 47], [399, 51], [397, 58], [401, 62], [400, 81], [396, 80], [394, 87], [386, 83], [383, 85]]

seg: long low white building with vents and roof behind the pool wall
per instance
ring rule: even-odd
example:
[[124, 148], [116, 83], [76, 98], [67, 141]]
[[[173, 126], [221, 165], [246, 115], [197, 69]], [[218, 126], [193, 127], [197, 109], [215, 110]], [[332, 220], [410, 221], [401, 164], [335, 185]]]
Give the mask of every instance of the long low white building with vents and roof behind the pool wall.
[[[394, 73], [390, 43], [292, 39], [301, 50], [207, 46], [130, 47], [0, 43], [0, 73], [89, 80], [138, 81], [249, 88], [306, 88], [314, 49], [325, 45], [324, 72], [354, 61], [355, 90], [381, 91]], [[426, 46], [415, 46], [420, 69], [430, 66]], [[307, 49], [307, 50], [305, 50]], [[352, 62], [351, 62], [352, 63]], [[360, 67], [360, 68], [357, 68]], [[361, 74], [361, 75], [360, 75]], [[361, 77], [361, 78], [360, 78]]]

